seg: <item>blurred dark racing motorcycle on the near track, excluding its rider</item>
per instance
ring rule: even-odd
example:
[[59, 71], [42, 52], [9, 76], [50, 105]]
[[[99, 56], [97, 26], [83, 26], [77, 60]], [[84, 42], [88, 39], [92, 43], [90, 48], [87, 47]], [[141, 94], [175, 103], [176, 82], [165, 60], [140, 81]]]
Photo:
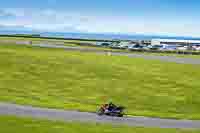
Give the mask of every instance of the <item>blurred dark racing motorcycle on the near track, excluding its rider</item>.
[[124, 116], [124, 109], [125, 108], [122, 107], [122, 106], [116, 106], [112, 110], [109, 110], [108, 104], [104, 104], [98, 109], [97, 114], [99, 116], [108, 115], [108, 116], [123, 117]]

